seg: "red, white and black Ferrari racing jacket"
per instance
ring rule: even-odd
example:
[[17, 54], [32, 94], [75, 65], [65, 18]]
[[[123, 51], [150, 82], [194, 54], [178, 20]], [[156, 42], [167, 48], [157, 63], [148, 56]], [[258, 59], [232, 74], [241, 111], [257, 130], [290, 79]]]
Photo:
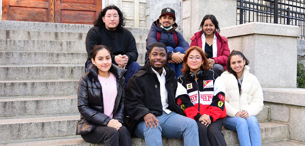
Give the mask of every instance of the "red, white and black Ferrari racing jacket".
[[[188, 73], [178, 78], [177, 91], [180, 93], [176, 94], [176, 103], [187, 117], [199, 120], [201, 115], [206, 114], [210, 116], [212, 122], [226, 117], [225, 86], [221, 79], [216, 79], [217, 77], [214, 71], [205, 70], [203, 77], [198, 80], [190, 79]], [[185, 92], [188, 98], [178, 96]]]

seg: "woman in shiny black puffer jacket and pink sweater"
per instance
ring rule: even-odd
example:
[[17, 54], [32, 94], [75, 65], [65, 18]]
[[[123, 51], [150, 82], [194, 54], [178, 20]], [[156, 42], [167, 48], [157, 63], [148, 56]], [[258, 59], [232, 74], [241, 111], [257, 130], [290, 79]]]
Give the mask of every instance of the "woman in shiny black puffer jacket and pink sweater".
[[91, 61], [78, 84], [81, 119], [76, 134], [89, 143], [131, 146], [130, 133], [124, 126], [125, 69], [111, 63], [111, 52], [104, 45], [94, 46]]

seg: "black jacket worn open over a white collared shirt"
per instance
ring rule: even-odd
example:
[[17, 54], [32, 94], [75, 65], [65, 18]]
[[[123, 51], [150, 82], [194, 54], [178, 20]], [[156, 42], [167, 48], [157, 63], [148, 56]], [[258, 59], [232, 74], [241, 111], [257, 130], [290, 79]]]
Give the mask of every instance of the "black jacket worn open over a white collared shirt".
[[[175, 103], [175, 94], [178, 85], [175, 78], [176, 73], [168, 65], [165, 65], [164, 69], [166, 71], [165, 87], [167, 90], [167, 109], [184, 115], [180, 107]], [[184, 94], [180, 96], [188, 95]], [[160, 83], [156, 73], [152, 71], [149, 62], [129, 79], [125, 107], [127, 114], [132, 120], [130, 123], [131, 132], [139, 122], [144, 120], [143, 117], [146, 114], [152, 113], [156, 117], [162, 115]]]

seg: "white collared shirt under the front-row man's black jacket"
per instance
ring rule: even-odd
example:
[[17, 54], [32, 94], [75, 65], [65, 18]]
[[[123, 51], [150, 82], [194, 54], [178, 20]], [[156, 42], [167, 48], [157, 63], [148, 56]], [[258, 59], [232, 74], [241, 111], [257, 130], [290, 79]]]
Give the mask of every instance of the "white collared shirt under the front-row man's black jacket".
[[169, 114], [171, 111], [167, 109], [168, 103], [167, 103], [167, 90], [165, 88], [165, 75], [166, 75], [165, 69], [163, 67], [161, 76], [155, 69], [152, 68], [152, 71], [156, 73], [158, 80], [160, 82], [160, 96], [161, 96], [162, 109], [164, 112]]

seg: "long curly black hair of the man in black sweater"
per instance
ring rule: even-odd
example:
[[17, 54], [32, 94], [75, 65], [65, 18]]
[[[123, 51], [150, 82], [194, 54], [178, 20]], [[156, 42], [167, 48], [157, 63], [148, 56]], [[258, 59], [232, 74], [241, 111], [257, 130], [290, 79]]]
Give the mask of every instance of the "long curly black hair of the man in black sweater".
[[102, 17], [104, 17], [107, 10], [110, 10], [110, 9], [117, 10], [117, 13], [119, 14], [119, 24], [117, 26], [117, 29], [121, 30], [125, 26], [126, 18], [124, 17], [123, 12], [115, 5], [108, 5], [107, 7], [102, 9], [102, 11], [99, 12], [99, 16], [97, 17], [97, 19], [95, 19], [95, 21], [93, 22], [94, 26], [100, 26], [100, 27], [105, 26], [105, 23], [103, 22]]

